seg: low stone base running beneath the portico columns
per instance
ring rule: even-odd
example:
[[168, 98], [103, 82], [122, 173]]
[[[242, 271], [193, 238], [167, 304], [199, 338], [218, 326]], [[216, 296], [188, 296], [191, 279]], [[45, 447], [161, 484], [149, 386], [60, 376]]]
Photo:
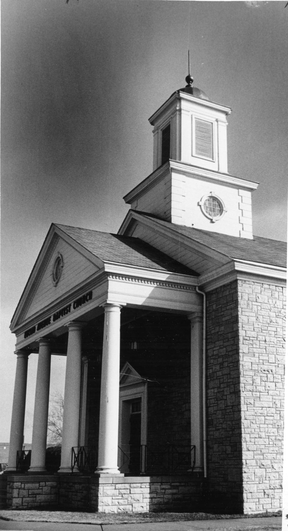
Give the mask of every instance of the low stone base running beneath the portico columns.
[[99, 512], [200, 510], [202, 479], [193, 476], [7, 477], [7, 506], [32, 509], [57, 506]]

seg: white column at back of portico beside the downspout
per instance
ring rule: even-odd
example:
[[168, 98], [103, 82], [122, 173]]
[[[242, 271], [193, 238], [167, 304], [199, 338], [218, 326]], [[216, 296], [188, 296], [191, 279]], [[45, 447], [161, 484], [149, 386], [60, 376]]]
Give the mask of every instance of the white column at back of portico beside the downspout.
[[196, 446], [194, 472], [203, 472], [203, 315], [191, 313], [188, 319], [191, 322], [191, 445]]

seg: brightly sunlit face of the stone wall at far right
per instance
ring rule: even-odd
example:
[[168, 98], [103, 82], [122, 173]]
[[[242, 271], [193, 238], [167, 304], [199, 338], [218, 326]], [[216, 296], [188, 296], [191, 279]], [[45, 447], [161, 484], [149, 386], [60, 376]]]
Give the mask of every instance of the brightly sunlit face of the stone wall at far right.
[[244, 512], [281, 508], [286, 289], [239, 281]]

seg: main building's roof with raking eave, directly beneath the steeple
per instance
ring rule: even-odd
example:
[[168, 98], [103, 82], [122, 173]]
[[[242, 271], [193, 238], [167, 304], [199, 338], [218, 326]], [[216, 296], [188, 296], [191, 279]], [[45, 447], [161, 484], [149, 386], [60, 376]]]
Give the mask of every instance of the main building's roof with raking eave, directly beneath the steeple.
[[187, 236], [194, 242], [209, 247], [230, 259], [259, 262], [278, 267], [286, 267], [287, 264], [287, 243], [274, 239], [254, 236], [253, 239], [229, 236], [200, 230], [183, 225], [175, 225], [163, 219], [157, 218], [146, 212], [135, 211], [137, 216], [148, 218], [155, 226], [163, 226], [174, 233]]

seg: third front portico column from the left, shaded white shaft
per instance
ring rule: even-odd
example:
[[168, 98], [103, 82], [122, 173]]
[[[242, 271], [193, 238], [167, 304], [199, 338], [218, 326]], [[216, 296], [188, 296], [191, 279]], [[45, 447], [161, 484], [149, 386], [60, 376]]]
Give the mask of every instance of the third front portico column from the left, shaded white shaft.
[[71, 473], [72, 447], [78, 447], [81, 391], [81, 329], [83, 324], [68, 324], [65, 374], [61, 466], [59, 473]]

